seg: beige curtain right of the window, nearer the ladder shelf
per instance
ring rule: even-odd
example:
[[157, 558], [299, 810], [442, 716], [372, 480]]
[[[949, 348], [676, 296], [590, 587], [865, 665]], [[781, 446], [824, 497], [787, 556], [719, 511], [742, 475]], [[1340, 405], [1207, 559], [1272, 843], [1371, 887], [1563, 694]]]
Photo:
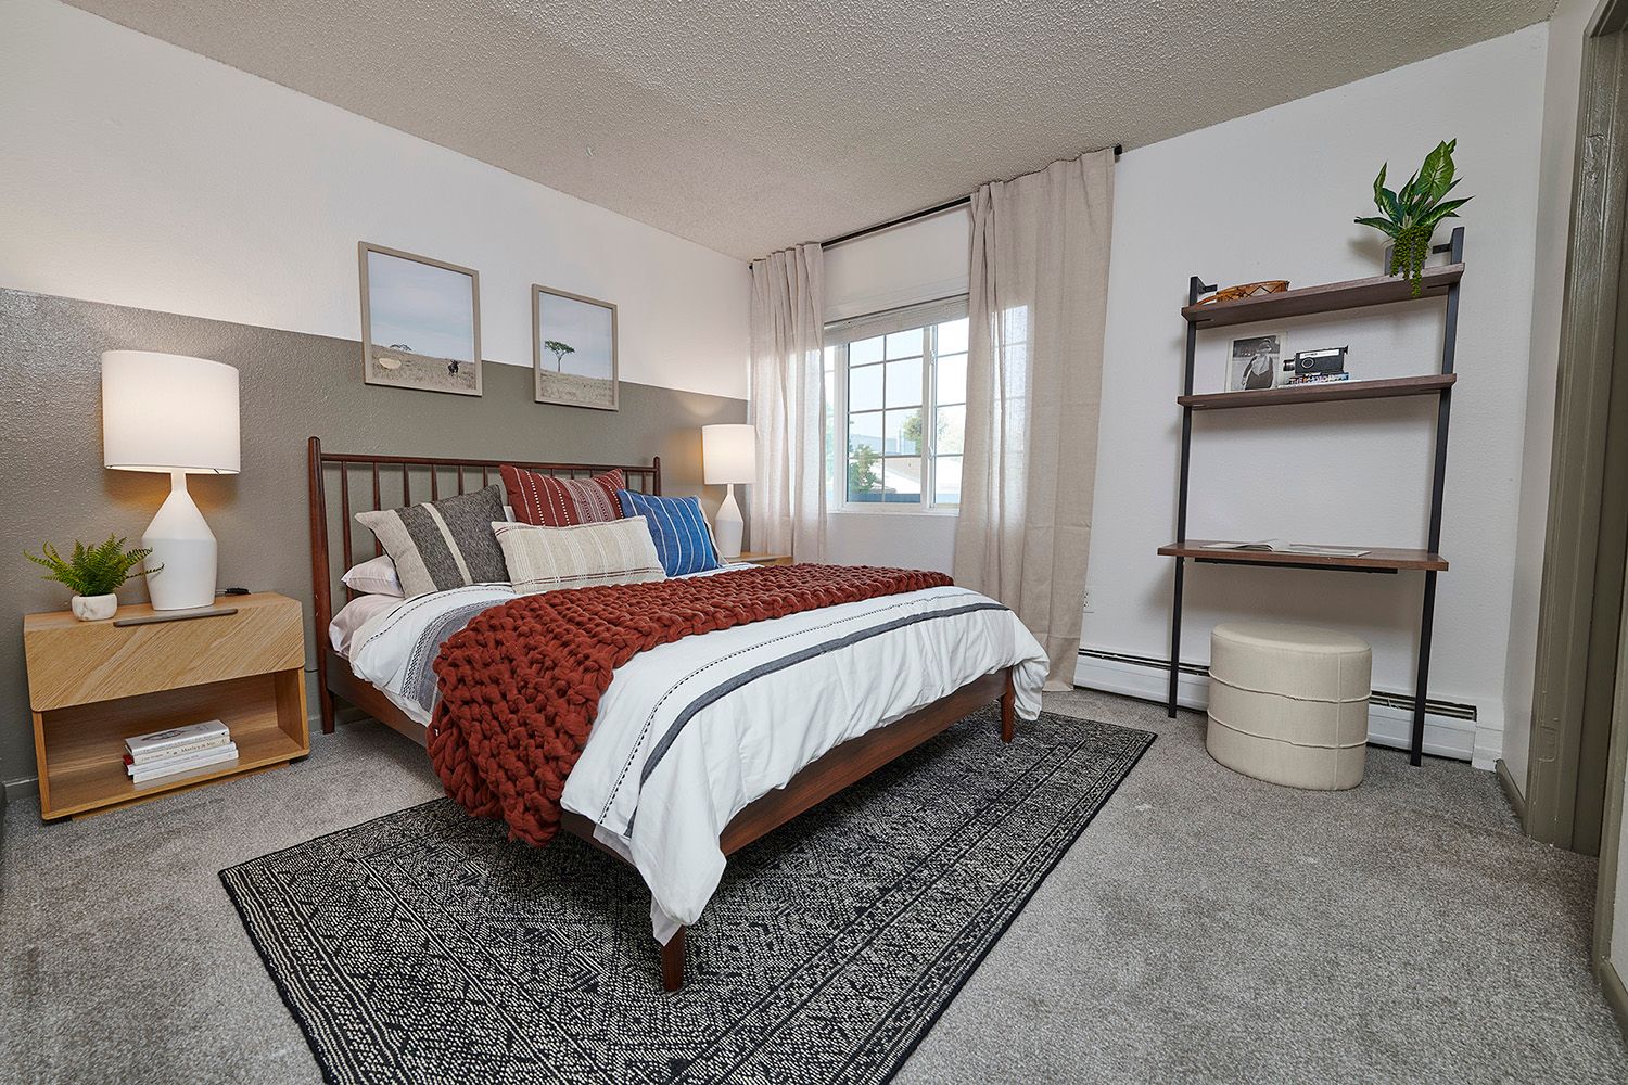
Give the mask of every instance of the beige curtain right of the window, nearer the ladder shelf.
[[956, 582], [1022, 618], [1073, 685], [1091, 551], [1114, 151], [972, 197]]

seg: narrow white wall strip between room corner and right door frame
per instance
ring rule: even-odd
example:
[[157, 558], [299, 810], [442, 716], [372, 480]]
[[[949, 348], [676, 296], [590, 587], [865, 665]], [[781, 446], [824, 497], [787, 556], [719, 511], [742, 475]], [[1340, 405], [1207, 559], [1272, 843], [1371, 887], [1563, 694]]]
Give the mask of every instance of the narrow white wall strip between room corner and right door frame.
[[1599, 0], [1560, 0], [1548, 21], [1543, 76], [1543, 150], [1537, 182], [1532, 348], [1525, 403], [1525, 462], [1516, 530], [1516, 576], [1509, 600], [1509, 656], [1504, 675], [1504, 765], [1525, 792], [1532, 742], [1532, 683], [1537, 660], [1537, 607], [1543, 586], [1548, 477], [1560, 376], [1560, 319], [1571, 236], [1571, 182], [1582, 86], [1582, 41]]

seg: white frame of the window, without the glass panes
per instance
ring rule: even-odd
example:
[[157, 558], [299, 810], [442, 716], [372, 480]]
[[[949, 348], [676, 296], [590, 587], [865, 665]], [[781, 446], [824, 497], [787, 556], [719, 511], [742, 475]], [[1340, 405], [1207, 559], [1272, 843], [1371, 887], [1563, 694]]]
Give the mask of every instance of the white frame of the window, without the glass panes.
[[[967, 296], [939, 298], [899, 309], [832, 320], [825, 325], [825, 350], [832, 364], [832, 477], [825, 480], [834, 512], [861, 516], [959, 516], [961, 504], [938, 504], [938, 351], [931, 329], [967, 316]], [[848, 501], [848, 343], [921, 329], [921, 499]], [[822, 363], [824, 364], [824, 363]], [[965, 462], [965, 460], [962, 460]]]

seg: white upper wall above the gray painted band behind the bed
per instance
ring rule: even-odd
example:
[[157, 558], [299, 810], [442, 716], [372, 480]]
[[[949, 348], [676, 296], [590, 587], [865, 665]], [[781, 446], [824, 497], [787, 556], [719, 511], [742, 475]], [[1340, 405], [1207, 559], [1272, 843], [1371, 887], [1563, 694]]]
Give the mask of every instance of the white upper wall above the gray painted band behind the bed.
[[[0, 2], [0, 286], [360, 338], [357, 242], [620, 306], [622, 379], [746, 395], [746, 265], [54, 0]], [[547, 153], [547, 148], [539, 148]]]

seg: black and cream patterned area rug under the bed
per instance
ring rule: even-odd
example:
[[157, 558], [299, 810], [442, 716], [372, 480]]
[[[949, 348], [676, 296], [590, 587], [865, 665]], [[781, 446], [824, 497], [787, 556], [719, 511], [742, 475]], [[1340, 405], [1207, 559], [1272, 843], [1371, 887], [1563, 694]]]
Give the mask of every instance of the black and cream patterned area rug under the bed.
[[998, 729], [736, 852], [671, 996], [637, 874], [449, 799], [221, 880], [329, 1082], [884, 1082], [1154, 739]]

